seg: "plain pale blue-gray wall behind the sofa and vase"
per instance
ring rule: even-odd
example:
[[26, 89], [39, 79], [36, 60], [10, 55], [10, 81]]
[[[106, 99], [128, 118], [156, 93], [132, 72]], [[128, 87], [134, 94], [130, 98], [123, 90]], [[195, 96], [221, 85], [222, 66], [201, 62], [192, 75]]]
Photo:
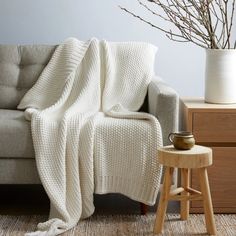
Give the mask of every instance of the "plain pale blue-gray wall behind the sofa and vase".
[[156, 74], [181, 96], [202, 96], [204, 49], [169, 41], [118, 4], [146, 14], [135, 0], [0, 0], [0, 43], [55, 44], [70, 36], [151, 42], [159, 48]]

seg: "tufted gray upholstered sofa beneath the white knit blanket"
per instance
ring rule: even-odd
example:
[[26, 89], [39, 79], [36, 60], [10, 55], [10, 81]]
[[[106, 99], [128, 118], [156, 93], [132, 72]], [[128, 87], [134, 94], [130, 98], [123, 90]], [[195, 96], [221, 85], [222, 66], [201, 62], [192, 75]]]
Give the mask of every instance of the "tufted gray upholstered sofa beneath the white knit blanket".
[[[0, 184], [40, 184], [30, 123], [17, 105], [37, 81], [55, 48], [0, 45]], [[164, 144], [168, 144], [168, 134], [178, 128], [178, 102], [173, 89], [153, 78], [141, 109], [159, 119]]]

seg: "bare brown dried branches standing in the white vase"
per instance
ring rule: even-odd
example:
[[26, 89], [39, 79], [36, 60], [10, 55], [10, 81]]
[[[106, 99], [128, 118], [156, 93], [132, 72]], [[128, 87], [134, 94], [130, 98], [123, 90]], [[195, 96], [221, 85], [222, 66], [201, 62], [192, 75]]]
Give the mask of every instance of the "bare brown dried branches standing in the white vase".
[[177, 42], [192, 42], [203, 48], [236, 48], [232, 39], [235, 0], [137, 0], [152, 15], [175, 26], [175, 31], [148, 21], [119, 6]]

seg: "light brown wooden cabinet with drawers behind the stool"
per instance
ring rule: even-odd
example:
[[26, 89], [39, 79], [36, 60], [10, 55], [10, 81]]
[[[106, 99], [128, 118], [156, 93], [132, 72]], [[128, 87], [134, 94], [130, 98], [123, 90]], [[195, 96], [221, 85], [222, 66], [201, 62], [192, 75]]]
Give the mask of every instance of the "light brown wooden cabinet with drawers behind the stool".
[[[236, 213], [236, 104], [207, 104], [203, 99], [183, 99], [184, 128], [194, 134], [197, 144], [213, 150], [208, 168], [215, 213]], [[191, 184], [198, 188], [197, 175]], [[191, 202], [191, 212], [203, 212], [202, 203]]]

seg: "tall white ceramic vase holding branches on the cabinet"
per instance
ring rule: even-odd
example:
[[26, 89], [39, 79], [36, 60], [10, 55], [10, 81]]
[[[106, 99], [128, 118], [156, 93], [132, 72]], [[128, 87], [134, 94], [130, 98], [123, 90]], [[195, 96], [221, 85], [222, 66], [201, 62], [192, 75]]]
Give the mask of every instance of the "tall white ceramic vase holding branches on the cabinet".
[[235, 49], [206, 49], [205, 101], [236, 103]]

